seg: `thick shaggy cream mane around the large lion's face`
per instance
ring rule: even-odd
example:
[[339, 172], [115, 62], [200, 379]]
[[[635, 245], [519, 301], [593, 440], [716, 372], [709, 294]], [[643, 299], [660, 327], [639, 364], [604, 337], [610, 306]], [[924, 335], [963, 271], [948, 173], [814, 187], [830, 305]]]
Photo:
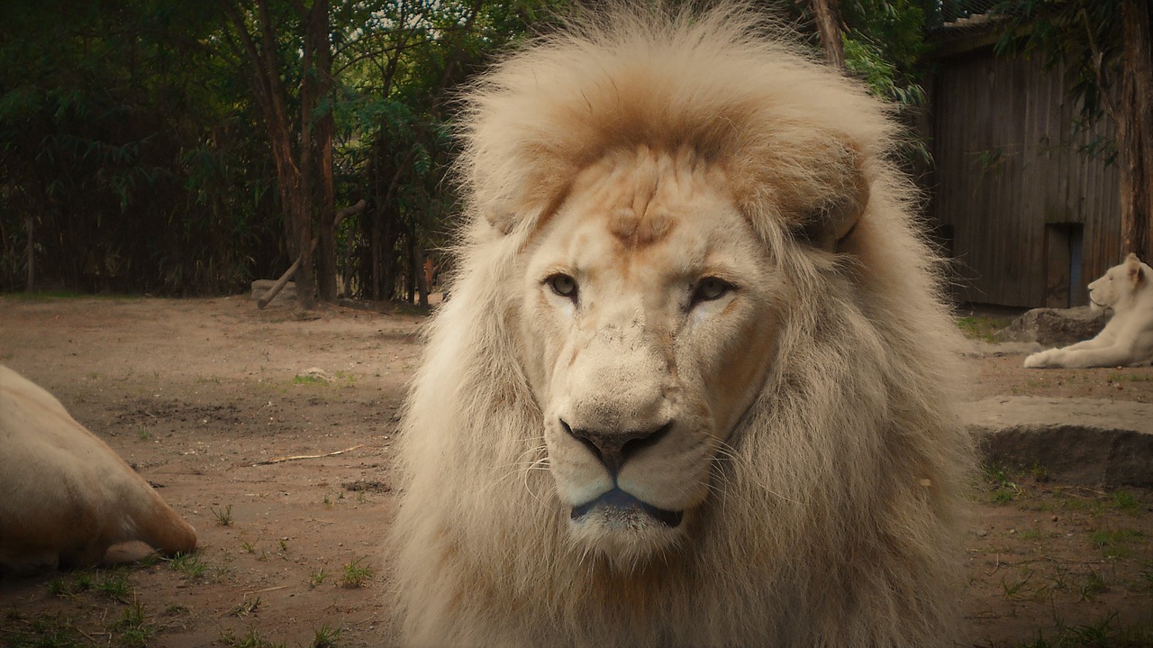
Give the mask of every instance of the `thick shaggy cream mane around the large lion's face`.
[[[466, 97], [469, 218], [407, 402], [389, 543], [406, 641], [949, 643], [971, 440], [887, 107], [766, 39], [743, 6], [610, 14], [523, 47]], [[515, 331], [540, 219], [579, 171], [641, 145], [724, 166], [791, 299], [699, 523], [621, 571], [567, 538]], [[806, 240], [798, 214], [860, 183], [864, 211], [835, 250]]]

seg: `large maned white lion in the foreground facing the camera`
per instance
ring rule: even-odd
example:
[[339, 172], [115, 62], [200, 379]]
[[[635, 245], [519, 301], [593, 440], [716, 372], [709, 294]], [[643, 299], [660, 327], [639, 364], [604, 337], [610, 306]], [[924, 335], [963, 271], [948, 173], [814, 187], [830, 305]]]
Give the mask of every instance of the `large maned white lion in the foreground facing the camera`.
[[947, 646], [971, 439], [888, 108], [741, 6], [470, 90], [400, 434], [414, 646]]

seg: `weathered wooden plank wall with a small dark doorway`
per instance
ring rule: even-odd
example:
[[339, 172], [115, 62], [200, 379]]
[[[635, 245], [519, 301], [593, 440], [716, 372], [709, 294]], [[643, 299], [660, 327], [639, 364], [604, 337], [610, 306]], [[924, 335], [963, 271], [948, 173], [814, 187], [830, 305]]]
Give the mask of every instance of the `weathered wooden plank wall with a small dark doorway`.
[[1121, 261], [1117, 169], [1078, 151], [1108, 120], [1075, 134], [1062, 74], [989, 48], [940, 60], [932, 99], [930, 213], [958, 299], [1088, 303], [1085, 285]]

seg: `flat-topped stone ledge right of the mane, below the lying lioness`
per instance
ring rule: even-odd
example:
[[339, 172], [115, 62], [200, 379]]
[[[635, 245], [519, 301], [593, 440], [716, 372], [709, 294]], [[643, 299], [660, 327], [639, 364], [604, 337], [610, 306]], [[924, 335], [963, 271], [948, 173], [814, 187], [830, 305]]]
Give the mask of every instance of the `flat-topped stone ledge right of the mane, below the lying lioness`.
[[965, 419], [986, 461], [1042, 466], [1068, 483], [1153, 487], [1153, 405], [1001, 395], [971, 404]]

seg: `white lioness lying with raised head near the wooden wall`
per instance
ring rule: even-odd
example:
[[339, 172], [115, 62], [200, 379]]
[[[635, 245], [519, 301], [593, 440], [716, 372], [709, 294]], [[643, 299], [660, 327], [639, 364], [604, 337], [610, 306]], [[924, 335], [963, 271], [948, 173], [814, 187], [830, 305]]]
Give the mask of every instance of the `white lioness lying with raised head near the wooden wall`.
[[1088, 285], [1091, 310], [1113, 309], [1091, 340], [1034, 353], [1025, 367], [1132, 367], [1153, 362], [1153, 268], [1130, 254]]

